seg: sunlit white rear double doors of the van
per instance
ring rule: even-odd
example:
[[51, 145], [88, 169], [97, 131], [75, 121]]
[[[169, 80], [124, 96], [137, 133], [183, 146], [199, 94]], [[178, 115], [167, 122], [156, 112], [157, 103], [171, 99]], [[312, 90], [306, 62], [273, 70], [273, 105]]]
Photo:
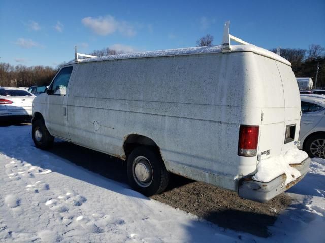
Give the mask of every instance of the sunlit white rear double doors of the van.
[[[277, 156], [296, 147], [300, 129], [300, 96], [291, 67], [255, 54], [261, 127], [258, 154]], [[295, 142], [296, 141], [296, 142]], [[262, 157], [263, 156], [263, 157]]]

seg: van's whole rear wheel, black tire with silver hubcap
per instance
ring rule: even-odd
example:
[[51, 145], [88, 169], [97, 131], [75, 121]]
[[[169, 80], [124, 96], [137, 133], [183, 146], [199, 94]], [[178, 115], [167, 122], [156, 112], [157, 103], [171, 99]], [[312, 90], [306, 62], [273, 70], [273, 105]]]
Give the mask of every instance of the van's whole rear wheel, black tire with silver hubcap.
[[[138, 172], [139, 168], [140, 172], [141, 169], [146, 172], [152, 170], [151, 176], [149, 176], [150, 173], [146, 173], [146, 176], [143, 176], [148, 178], [147, 181], [138, 179], [135, 169], [137, 165]], [[144, 146], [136, 147], [131, 154], [129, 154], [127, 158], [127, 177], [129, 185], [145, 196], [152, 196], [163, 192], [169, 182], [169, 172], [166, 170], [160, 154]], [[144, 179], [143, 177], [142, 179]]]

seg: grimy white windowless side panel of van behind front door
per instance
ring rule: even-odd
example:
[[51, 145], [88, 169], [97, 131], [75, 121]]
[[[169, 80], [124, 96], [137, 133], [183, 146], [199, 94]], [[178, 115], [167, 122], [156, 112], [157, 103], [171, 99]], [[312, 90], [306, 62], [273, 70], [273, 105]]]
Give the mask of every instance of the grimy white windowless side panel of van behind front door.
[[238, 164], [241, 174], [256, 168], [256, 157], [237, 155], [243, 117], [248, 124], [261, 120], [260, 109], [246, 107], [249, 92], [255, 93], [244, 65], [252, 55], [80, 63], [68, 102], [71, 139], [121, 157], [126, 136], [141, 134], [158, 144], [169, 171], [235, 189]]

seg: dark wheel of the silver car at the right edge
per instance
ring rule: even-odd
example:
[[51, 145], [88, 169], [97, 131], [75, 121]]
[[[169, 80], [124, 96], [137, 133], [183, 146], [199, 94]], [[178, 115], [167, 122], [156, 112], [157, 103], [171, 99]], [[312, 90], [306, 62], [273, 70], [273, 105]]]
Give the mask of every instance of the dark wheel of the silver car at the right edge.
[[304, 150], [311, 158], [325, 158], [325, 134], [320, 133], [310, 136], [304, 144]]

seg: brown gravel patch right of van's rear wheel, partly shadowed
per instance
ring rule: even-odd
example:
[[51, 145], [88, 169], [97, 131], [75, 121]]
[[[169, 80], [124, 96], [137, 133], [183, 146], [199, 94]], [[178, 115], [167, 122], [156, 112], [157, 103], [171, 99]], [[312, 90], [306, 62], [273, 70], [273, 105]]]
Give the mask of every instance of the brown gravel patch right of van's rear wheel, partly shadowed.
[[268, 237], [279, 213], [293, 200], [281, 194], [268, 203], [240, 198], [236, 192], [173, 175], [168, 190], [151, 198], [192, 213], [220, 227]]

